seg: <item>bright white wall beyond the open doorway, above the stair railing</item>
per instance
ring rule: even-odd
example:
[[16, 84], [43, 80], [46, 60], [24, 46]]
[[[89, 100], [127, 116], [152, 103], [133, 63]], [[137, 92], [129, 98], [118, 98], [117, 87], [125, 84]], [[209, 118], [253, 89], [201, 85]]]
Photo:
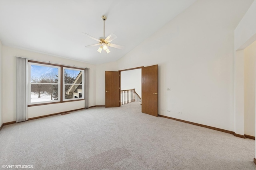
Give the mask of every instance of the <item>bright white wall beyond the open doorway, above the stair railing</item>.
[[135, 70], [121, 71], [121, 90], [135, 88], [141, 97], [141, 68]]

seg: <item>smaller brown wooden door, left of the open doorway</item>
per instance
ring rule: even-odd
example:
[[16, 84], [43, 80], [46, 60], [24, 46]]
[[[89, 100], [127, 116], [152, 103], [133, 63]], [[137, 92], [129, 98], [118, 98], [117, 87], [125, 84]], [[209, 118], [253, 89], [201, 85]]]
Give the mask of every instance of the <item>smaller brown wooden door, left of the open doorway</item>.
[[105, 107], [120, 106], [120, 78], [118, 71], [105, 71]]

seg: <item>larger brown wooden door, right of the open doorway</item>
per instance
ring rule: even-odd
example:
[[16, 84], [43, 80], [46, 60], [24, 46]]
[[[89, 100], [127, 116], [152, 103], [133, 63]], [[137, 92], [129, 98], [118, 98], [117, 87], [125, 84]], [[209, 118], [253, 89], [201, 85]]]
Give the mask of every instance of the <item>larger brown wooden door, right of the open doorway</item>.
[[141, 111], [158, 116], [158, 65], [143, 67], [141, 78]]

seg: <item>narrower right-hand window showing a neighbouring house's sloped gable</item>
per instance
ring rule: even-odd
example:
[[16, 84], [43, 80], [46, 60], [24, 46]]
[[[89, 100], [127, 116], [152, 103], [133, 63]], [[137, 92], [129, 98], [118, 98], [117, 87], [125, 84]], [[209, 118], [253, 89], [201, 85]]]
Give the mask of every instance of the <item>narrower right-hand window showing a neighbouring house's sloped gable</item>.
[[84, 99], [84, 70], [63, 68], [63, 101]]

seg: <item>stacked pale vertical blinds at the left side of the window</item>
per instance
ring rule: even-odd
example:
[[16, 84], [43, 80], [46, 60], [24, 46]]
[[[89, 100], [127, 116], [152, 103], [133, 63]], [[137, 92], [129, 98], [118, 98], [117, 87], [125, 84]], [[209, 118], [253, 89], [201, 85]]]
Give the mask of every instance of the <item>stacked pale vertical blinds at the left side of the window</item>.
[[28, 59], [17, 57], [16, 122], [28, 120]]

